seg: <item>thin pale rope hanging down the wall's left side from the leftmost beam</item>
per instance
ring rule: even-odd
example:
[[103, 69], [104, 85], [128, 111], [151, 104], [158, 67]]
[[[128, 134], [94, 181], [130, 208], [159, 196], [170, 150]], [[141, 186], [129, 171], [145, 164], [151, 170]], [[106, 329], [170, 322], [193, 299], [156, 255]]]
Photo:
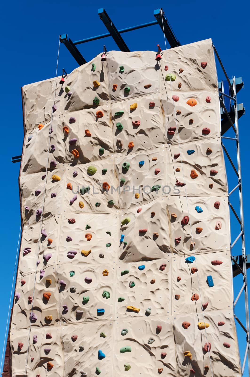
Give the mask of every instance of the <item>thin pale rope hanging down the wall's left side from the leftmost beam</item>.
[[[57, 61], [56, 61], [56, 75], [55, 75], [55, 97], [53, 101], [53, 106], [55, 105], [56, 100], [56, 87], [57, 87], [57, 69], [58, 69], [58, 59], [59, 59], [59, 49], [60, 49], [60, 40], [61, 35], [59, 37], [59, 45], [58, 45], [58, 54], [57, 54]], [[42, 213], [41, 213], [41, 221], [40, 221], [40, 231], [39, 234], [41, 234], [42, 231], [42, 225], [43, 225], [43, 210], [44, 210], [44, 203], [45, 203], [45, 192], [46, 192], [46, 185], [47, 185], [47, 177], [48, 177], [48, 169], [49, 169], [49, 150], [50, 150], [50, 141], [51, 141], [51, 134], [52, 134], [52, 123], [53, 123], [53, 107], [52, 107], [52, 118], [51, 118], [51, 124], [50, 124], [50, 132], [49, 132], [49, 147], [47, 152], [47, 166], [46, 166], [46, 177], [44, 180], [44, 190], [43, 190], [43, 205], [42, 205]], [[37, 248], [37, 262], [38, 262], [38, 256], [40, 253], [40, 245], [41, 241], [38, 243]], [[36, 271], [35, 271], [35, 278], [34, 278], [34, 287], [33, 287], [33, 294], [32, 294], [32, 307], [31, 307], [31, 313], [33, 312], [33, 305], [34, 305], [34, 296], [35, 296], [35, 283], [37, 278], [37, 270], [38, 270], [38, 263], [36, 263]], [[26, 357], [26, 366], [25, 366], [25, 374], [24, 377], [27, 376], [27, 367], [28, 367], [28, 356], [29, 356], [29, 342], [30, 342], [30, 333], [31, 333], [31, 321], [32, 321], [32, 315], [30, 315], [30, 324], [29, 324], [29, 337], [28, 337], [28, 347], [27, 347], [27, 357]]]

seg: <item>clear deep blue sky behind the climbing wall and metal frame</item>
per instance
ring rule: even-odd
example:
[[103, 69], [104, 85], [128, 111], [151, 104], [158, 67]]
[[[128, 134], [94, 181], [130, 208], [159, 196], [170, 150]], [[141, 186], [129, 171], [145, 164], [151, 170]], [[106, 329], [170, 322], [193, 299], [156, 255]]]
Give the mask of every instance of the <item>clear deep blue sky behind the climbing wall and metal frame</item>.
[[[154, 5], [155, 4], [155, 5]], [[154, 20], [154, 9], [162, 7], [168, 17], [170, 25], [181, 44], [212, 38], [220, 54], [224, 67], [229, 77], [242, 77], [244, 89], [238, 94], [238, 102], [244, 103], [246, 114], [239, 122], [242, 182], [244, 195], [246, 251], [249, 254], [250, 222], [249, 222], [249, 4], [245, 1], [219, 2], [218, 0], [187, 2], [178, 0], [171, 3], [162, 0], [154, 3], [145, 1], [22, 1], [3, 2], [1, 10], [1, 87], [2, 87], [2, 184], [0, 186], [2, 198], [2, 250], [0, 276], [2, 276], [1, 300], [1, 331], [0, 350], [2, 356], [3, 338], [6, 317], [9, 306], [12, 276], [14, 270], [15, 254], [17, 250], [18, 234], [20, 228], [20, 206], [18, 193], [18, 172], [20, 164], [13, 164], [11, 157], [20, 155], [23, 144], [23, 118], [21, 106], [21, 90], [24, 84], [33, 83], [55, 76], [56, 58], [58, 51], [59, 35], [67, 33], [72, 40], [91, 37], [107, 32], [104, 24], [99, 19], [98, 8], [104, 7], [117, 29], [138, 25]], [[248, 10], [247, 10], [248, 9]], [[158, 25], [139, 31], [123, 34], [123, 38], [131, 51], [156, 50], [156, 44], [164, 46], [164, 37]], [[117, 46], [111, 37], [79, 45], [84, 58], [91, 60], [101, 52], [103, 44], [107, 50], [116, 50]], [[71, 72], [77, 63], [71, 57], [63, 44], [60, 46], [59, 74], [64, 67]], [[219, 66], [219, 81], [223, 74]], [[227, 135], [231, 136], [231, 135]], [[8, 142], [8, 143], [7, 143]], [[226, 143], [227, 149], [235, 147], [233, 141]], [[230, 147], [232, 146], [232, 147]], [[236, 162], [235, 159], [233, 161]], [[227, 164], [228, 166], [228, 164]], [[229, 187], [233, 188], [235, 181], [232, 169], [227, 170]], [[237, 208], [237, 193], [231, 198]], [[239, 233], [237, 221], [231, 216], [232, 239]], [[233, 254], [240, 251], [240, 241], [235, 246]], [[248, 273], [249, 275], [249, 273]], [[250, 278], [249, 286], [250, 286]], [[234, 279], [234, 289], [237, 295], [242, 279]], [[229, 282], [230, 286], [231, 282]], [[250, 289], [249, 289], [250, 290]], [[236, 314], [241, 318], [243, 296], [236, 306]], [[243, 320], [243, 319], [242, 319]], [[237, 326], [239, 349], [244, 354], [245, 334]], [[244, 376], [247, 375], [247, 366]]]

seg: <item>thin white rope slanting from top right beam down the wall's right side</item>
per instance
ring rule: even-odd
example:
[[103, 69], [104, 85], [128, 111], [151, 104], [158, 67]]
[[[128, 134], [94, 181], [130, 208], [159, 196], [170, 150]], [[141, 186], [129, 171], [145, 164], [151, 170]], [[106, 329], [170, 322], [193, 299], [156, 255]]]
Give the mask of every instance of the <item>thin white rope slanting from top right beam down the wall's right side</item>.
[[[162, 11], [161, 11], [161, 15], [162, 15]], [[162, 16], [162, 17], [163, 17], [163, 16]], [[166, 56], [167, 56], [167, 61], [168, 61], [168, 52], [167, 52], [166, 37], [165, 37], [165, 32], [164, 32], [163, 18], [162, 18], [162, 26], [163, 26], [163, 33], [164, 33], [164, 39], [165, 39]], [[169, 67], [169, 61], [168, 61], [168, 67]], [[170, 67], [169, 67], [169, 72], [171, 72]], [[165, 82], [164, 82], [164, 86], [165, 86], [165, 89], [166, 89]], [[170, 75], [170, 87], [171, 87], [171, 93], [172, 93], [172, 96], [173, 96], [173, 89], [172, 89], [171, 75]], [[166, 90], [166, 93], [167, 93], [167, 90]], [[172, 98], [173, 98], [173, 97], [172, 97]], [[173, 101], [173, 105], [174, 105], [174, 101]], [[174, 105], [174, 114], [175, 114], [175, 124], [176, 124], [177, 138], [178, 138], [178, 144], [179, 144], [179, 150], [180, 150], [181, 170], [182, 170], [182, 175], [183, 175], [184, 188], [185, 188], [186, 201], [187, 201], [187, 211], [188, 211], [188, 217], [189, 217], [189, 219], [190, 219], [189, 206], [188, 206], [188, 200], [187, 200], [187, 190], [186, 190], [186, 183], [185, 183], [184, 170], [183, 170], [183, 162], [182, 162], [182, 157], [181, 157], [180, 139], [179, 139], [178, 126], [177, 126], [177, 119], [176, 119], [176, 112], [175, 112], [175, 105]], [[181, 203], [181, 201], [180, 201], [180, 203]], [[182, 209], [182, 206], [181, 206], [181, 209]], [[191, 231], [191, 237], [192, 237], [192, 243], [193, 243], [193, 250], [194, 250], [194, 256], [195, 256], [194, 238], [193, 238], [193, 233], [192, 233], [192, 226], [191, 226], [192, 224], [191, 224], [190, 221], [189, 221], [189, 224], [190, 224], [190, 231]], [[198, 268], [197, 268], [196, 257], [195, 257], [195, 266], [196, 266], [196, 269], [197, 269], [198, 286], [199, 286], [200, 298], [201, 298], [201, 303], [202, 303], [201, 288], [200, 288], [200, 282], [199, 282], [199, 275], [198, 275]], [[204, 324], [205, 324], [205, 317], [204, 317], [204, 311], [203, 311], [203, 309], [202, 309], [202, 314], [203, 314], [203, 321], [204, 321]], [[197, 313], [197, 316], [198, 316], [198, 313]], [[208, 343], [208, 340], [207, 340], [206, 325], [205, 325], [205, 335], [206, 335], [206, 341], [207, 341], [207, 343]], [[213, 372], [212, 372], [212, 365], [211, 365], [211, 359], [210, 359], [209, 349], [208, 349], [208, 356], [209, 356], [209, 363], [210, 363], [210, 368], [211, 368], [211, 375], [212, 375], [212, 377], [213, 377]]]

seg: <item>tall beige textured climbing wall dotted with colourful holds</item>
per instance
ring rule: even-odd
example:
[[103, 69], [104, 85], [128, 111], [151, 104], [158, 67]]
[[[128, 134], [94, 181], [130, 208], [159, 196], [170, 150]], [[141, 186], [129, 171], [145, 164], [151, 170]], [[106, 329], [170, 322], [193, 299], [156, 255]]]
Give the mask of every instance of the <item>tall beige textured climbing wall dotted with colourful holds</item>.
[[212, 41], [23, 87], [13, 376], [240, 375]]

